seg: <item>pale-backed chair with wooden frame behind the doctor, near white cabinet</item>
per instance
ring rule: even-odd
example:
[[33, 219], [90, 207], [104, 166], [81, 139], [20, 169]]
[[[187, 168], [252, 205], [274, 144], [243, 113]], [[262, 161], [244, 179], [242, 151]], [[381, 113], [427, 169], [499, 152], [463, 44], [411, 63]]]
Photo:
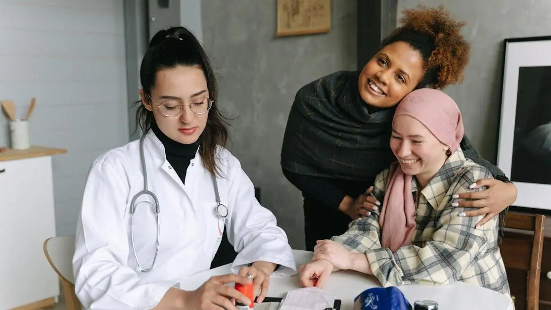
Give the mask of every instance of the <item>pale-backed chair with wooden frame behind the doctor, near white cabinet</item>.
[[60, 277], [67, 310], [80, 310], [82, 306], [74, 292], [73, 254], [74, 236], [52, 237], [42, 246], [48, 263]]

